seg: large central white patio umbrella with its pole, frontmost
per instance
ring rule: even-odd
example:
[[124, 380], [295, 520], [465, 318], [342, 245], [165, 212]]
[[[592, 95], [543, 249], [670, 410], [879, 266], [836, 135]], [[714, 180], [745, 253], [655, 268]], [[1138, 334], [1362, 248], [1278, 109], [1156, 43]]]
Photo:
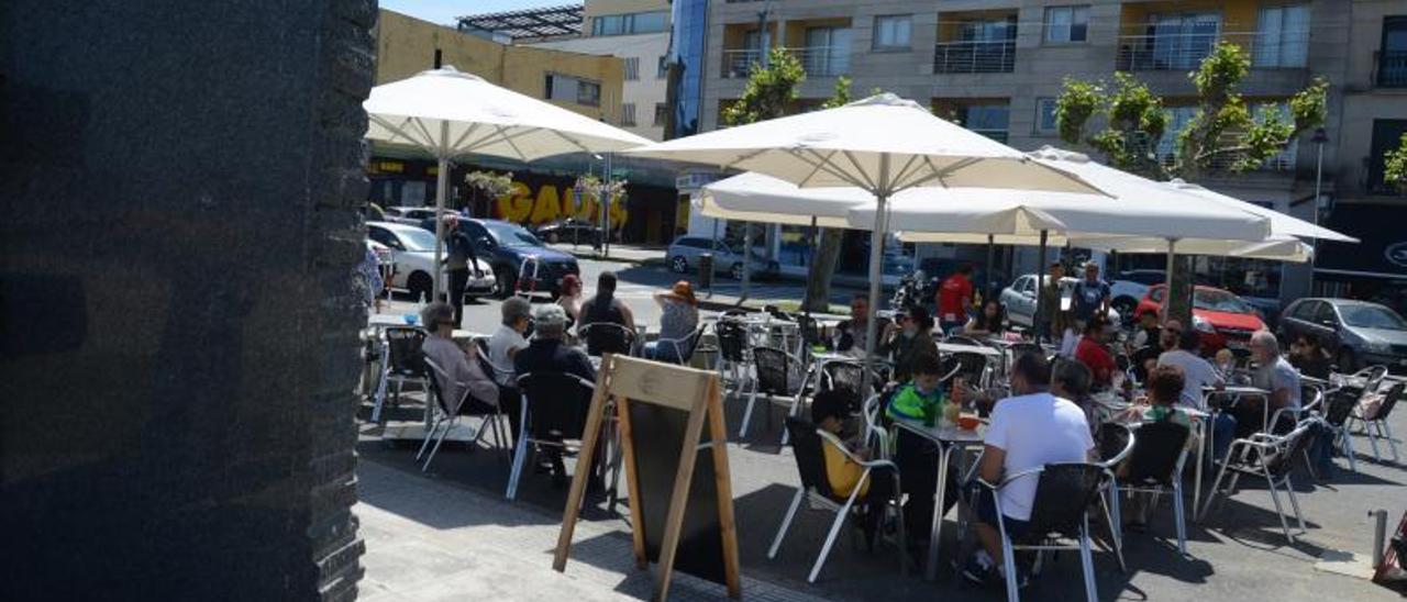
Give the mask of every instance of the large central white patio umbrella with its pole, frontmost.
[[[660, 159], [743, 169], [799, 187], [854, 186], [875, 197], [870, 307], [879, 307], [884, 207], [915, 187], [1005, 187], [1065, 193], [1100, 190], [1078, 176], [934, 117], [912, 100], [878, 94], [844, 107], [761, 121], [628, 150]], [[875, 347], [868, 321], [867, 349]], [[868, 380], [868, 371], [865, 378]]]

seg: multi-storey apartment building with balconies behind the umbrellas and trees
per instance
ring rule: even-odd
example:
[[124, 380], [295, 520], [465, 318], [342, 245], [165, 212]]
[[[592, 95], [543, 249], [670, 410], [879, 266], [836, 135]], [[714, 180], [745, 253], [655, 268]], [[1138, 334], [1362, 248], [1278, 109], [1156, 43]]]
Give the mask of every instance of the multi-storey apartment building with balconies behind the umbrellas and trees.
[[[857, 94], [878, 87], [927, 103], [936, 114], [1019, 149], [1068, 146], [1058, 139], [1054, 118], [1062, 80], [1109, 80], [1123, 70], [1166, 98], [1176, 129], [1195, 103], [1188, 72], [1218, 41], [1231, 41], [1252, 59], [1242, 86], [1252, 104], [1283, 107], [1314, 76], [1324, 76], [1332, 83], [1330, 117], [1320, 142], [1303, 135], [1261, 170], [1213, 174], [1202, 183], [1304, 219], [1316, 219], [1318, 205], [1318, 218], [1349, 233], [1366, 232], [1365, 219], [1376, 225], [1392, 215], [1392, 222], [1407, 222], [1403, 198], [1382, 183], [1382, 153], [1407, 129], [1407, 0], [674, 4], [674, 60], [695, 77], [674, 83], [680, 134], [719, 127], [722, 108], [741, 94], [761, 52], [774, 46], [794, 52], [808, 70], [801, 110], [817, 105], [832, 94], [836, 77], [848, 76]], [[681, 34], [689, 31], [704, 35], [681, 45]], [[696, 128], [689, 128], [694, 122]], [[1175, 132], [1165, 136], [1161, 155], [1171, 158], [1173, 138]], [[1316, 203], [1320, 150], [1323, 197]], [[1390, 232], [1361, 238], [1365, 243], [1351, 252], [1325, 246], [1318, 278], [1356, 286], [1355, 294], [1407, 278], [1407, 243], [1392, 248], [1397, 241]], [[961, 255], [951, 248], [930, 252]], [[1014, 259], [1007, 263], [1016, 270], [1034, 263], [1021, 262], [1019, 249]], [[1283, 280], [1278, 287], [1283, 297], [1309, 293], [1309, 266], [1283, 273], [1278, 264], [1244, 269], [1273, 270], [1269, 280]], [[1349, 293], [1334, 287], [1330, 293]]]

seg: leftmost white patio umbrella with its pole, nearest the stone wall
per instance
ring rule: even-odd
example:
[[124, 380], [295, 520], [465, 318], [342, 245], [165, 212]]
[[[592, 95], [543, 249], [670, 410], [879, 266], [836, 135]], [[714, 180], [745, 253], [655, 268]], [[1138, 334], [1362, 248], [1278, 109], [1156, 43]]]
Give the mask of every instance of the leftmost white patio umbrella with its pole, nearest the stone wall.
[[[613, 152], [650, 142], [578, 113], [495, 86], [453, 66], [371, 89], [362, 107], [366, 138], [419, 148], [439, 162], [435, 208], [445, 208], [449, 163], [461, 155], [533, 160], [568, 152]], [[436, 212], [438, 215], [438, 212]], [[435, 221], [435, 263], [443, 225]], [[432, 298], [439, 297], [436, 271]]]

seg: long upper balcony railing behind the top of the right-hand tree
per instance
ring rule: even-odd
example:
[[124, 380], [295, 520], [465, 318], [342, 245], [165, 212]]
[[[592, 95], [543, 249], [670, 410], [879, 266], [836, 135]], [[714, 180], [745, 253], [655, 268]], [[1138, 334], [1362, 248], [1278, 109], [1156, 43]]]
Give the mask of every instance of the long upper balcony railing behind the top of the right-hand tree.
[[1195, 70], [1218, 42], [1233, 42], [1249, 51], [1252, 68], [1300, 69], [1306, 63], [1309, 41], [1309, 30], [1120, 35], [1116, 68], [1123, 72]]

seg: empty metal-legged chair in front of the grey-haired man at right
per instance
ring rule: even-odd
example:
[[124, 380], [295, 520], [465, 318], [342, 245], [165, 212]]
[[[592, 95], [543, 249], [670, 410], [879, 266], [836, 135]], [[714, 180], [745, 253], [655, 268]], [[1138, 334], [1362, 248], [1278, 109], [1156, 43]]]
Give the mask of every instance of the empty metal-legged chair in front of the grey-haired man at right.
[[[1290, 533], [1290, 523], [1286, 520], [1285, 508], [1280, 505], [1280, 488], [1290, 495], [1290, 506], [1294, 509], [1294, 518], [1300, 523], [1300, 533], [1304, 533], [1304, 516], [1300, 515], [1300, 501], [1294, 497], [1294, 484], [1290, 481], [1290, 473], [1294, 467], [1294, 459], [1304, 453], [1304, 449], [1313, 439], [1310, 428], [1316, 421], [1316, 418], [1303, 421], [1287, 435], [1255, 433], [1247, 439], [1231, 442], [1227, 457], [1241, 459], [1241, 461], [1221, 463], [1221, 470], [1217, 471], [1217, 478], [1211, 482], [1211, 495], [1202, 505], [1197, 519], [1200, 520], [1207, 516], [1207, 511], [1211, 508], [1211, 502], [1217, 498], [1217, 494], [1231, 497], [1241, 475], [1263, 477], [1266, 487], [1271, 489], [1271, 501], [1275, 502], [1275, 513], [1280, 516], [1280, 527], [1285, 530], [1285, 539], [1293, 544], [1294, 536]], [[1221, 491], [1218, 485], [1221, 485], [1221, 478], [1227, 473], [1231, 473], [1231, 481]]]

